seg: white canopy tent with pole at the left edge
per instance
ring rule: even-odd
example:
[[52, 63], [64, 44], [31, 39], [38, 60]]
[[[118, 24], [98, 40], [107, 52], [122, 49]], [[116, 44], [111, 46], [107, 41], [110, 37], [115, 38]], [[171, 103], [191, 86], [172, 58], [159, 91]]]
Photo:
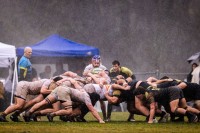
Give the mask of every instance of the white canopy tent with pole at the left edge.
[[15, 83], [18, 82], [17, 56], [16, 56], [15, 46], [0, 42], [0, 67], [9, 68], [9, 75], [5, 81], [5, 86], [6, 84], [11, 84], [11, 87], [5, 87], [5, 89], [6, 91], [11, 92], [11, 104], [12, 104]]

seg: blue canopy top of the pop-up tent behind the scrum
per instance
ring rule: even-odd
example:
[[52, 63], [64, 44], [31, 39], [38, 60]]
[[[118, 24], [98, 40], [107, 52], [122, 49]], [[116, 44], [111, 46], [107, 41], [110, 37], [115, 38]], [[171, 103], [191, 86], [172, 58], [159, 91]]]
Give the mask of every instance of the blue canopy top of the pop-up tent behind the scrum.
[[[90, 57], [99, 54], [99, 49], [65, 39], [57, 34], [32, 45], [32, 57]], [[24, 54], [25, 47], [17, 48], [17, 56]]]

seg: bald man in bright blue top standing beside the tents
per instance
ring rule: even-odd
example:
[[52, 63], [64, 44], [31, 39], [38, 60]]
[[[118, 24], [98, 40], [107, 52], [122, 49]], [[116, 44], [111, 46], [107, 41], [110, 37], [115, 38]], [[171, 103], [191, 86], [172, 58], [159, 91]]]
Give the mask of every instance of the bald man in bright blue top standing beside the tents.
[[32, 80], [32, 64], [30, 58], [32, 55], [32, 48], [25, 47], [24, 55], [21, 57], [18, 63], [18, 77], [19, 81], [31, 81]]

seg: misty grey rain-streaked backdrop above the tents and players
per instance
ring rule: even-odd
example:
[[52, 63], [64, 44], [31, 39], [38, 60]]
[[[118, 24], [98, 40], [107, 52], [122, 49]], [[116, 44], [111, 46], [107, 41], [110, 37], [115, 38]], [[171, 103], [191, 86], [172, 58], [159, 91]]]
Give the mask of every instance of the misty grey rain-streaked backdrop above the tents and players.
[[0, 42], [20, 47], [52, 34], [99, 48], [107, 68], [117, 59], [137, 79], [156, 71], [184, 79], [200, 51], [200, 1], [0, 0]]

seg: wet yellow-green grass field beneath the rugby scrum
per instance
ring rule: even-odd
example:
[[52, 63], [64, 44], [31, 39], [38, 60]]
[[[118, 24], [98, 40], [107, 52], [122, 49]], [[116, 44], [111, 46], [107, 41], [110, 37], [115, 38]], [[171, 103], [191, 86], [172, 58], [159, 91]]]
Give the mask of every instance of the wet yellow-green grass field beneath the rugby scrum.
[[[199, 133], [199, 123], [156, 123], [147, 124], [145, 118], [135, 115], [136, 122], [127, 122], [127, 112], [113, 112], [112, 121], [99, 124], [89, 113], [85, 118], [88, 122], [47, 122], [42, 117], [40, 122], [6, 122], [0, 123], [0, 133], [133, 133], [133, 132], [170, 132], [170, 133]], [[9, 117], [7, 117], [9, 120]], [[186, 120], [187, 121], [187, 120]]]

